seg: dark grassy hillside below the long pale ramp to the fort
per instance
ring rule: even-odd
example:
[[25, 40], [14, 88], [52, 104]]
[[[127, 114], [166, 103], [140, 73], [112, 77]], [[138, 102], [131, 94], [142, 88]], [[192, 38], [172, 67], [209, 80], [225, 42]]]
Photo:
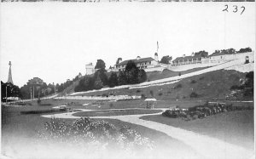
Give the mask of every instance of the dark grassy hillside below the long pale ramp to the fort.
[[[163, 86], [153, 86], [148, 88], [135, 89], [113, 89], [109, 91], [99, 91], [95, 93], [86, 93], [79, 95], [143, 95], [155, 99], [225, 99], [231, 94], [230, 87], [239, 85], [240, 80], [245, 79], [246, 73], [239, 71], [212, 71], [195, 77], [184, 78], [183, 80], [166, 84]], [[195, 93], [194, 98], [190, 97]], [[251, 97], [253, 98], [253, 97]]]

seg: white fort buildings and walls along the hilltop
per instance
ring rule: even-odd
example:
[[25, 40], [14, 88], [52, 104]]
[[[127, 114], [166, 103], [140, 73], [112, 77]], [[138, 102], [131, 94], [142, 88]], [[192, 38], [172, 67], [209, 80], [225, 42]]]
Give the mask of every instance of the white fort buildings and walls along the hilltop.
[[[189, 66], [198, 66], [201, 67], [201, 65], [218, 65], [220, 63], [224, 63], [226, 61], [230, 60], [247, 60], [249, 62], [254, 62], [254, 52], [247, 52], [247, 53], [236, 53], [236, 54], [224, 54], [224, 53], [218, 53], [218, 54], [211, 54], [209, 56], [201, 56], [201, 55], [195, 55], [191, 54], [189, 56], [186, 56], [183, 54], [182, 57], [177, 57], [175, 60], [170, 59], [170, 64], [165, 65], [161, 64], [159, 62], [158, 54], [154, 54], [154, 58], [147, 57], [147, 58], [141, 58], [140, 56], [137, 56], [136, 59], [132, 59], [132, 61], [137, 65], [139, 69], [144, 69], [145, 71], [163, 71], [165, 69], [176, 71], [177, 67], [188, 67]], [[129, 60], [122, 60], [122, 58], [118, 59], [117, 64], [113, 65], [108, 71], [124, 71], [125, 66], [127, 65]], [[92, 63], [85, 65], [86, 74], [90, 75], [95, 72], [94, 65]]]

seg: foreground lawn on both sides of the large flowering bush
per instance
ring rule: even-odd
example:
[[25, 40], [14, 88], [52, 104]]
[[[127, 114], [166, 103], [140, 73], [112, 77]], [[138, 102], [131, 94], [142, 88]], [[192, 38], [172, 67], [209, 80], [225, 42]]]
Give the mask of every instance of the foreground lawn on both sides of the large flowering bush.
[[[39, 141], [38, 145], [38, 131], [44, 130], [44, 122], [49, 122], [49, 118], [35, 115], [20, 115], [20, 111], [30, 111], [35, 109], [49, 109], [42, 107], [2, 107], [2, 153], [7, 156], [26, 153], [29, 155], [33, 152], [42, 152], [45, 147], [42, 147]], [[62, 120], [62, 119], [61, 119]], [[112, 119], [92, 119], [92, 120], [106, 120], [113, 123], [117, 128], [128, 125], [131, 129], [137, 130], [143, 136], [148, 137], [154, 141], [156, 146], [155, 156], [161, 156], [165, 153], [168, 156], [189, 154], [189, 156], [196, 155], [195, 151], [189, 146], [184, 145], [177, 139], [168, 137], [165, 133], [160, 133], [155, 130], [145, 128], [139, 125], [128, 122], [120, 122]], [[67, 123], [74, 122], [73, 119], [65, 119]], [[50, 146], [50, 145], [49, 145]], [[41, 150], [42, 149], [42, 150]], [[40, 151], [41, 150], [41, 151]], [[182, 151], [182, 153], [178, 152]], [[49, 153], [50, 150], [44, 151], [43, 155]], [[198, 154], [197, 154], [198, 155]]]

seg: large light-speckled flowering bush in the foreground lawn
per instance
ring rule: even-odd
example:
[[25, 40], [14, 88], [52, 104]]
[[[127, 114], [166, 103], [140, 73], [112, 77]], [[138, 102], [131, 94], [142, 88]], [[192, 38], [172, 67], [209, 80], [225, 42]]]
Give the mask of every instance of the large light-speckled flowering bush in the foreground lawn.
[[104, 121], [92, 121], [90, 118], [80, 118], [72, 124], [58, 119], [44, 123], [45, 132], [39, 132], [41, 139], [61, 142], [65, 145], [83, 145], [95, 150], [152, 150], [153, 142], [143, 137], [131, 128], [123, 126], [120, 129]]

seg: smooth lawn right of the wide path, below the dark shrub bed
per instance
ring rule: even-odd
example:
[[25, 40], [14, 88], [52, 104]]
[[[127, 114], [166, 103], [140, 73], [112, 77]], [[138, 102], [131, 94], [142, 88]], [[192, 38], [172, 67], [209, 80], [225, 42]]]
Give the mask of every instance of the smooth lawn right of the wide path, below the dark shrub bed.
[[181, 118], [170, 118], [162, 115], [143, 116], [141, 118], [205, 134], [253, 150], [254, 117], [252, 110], [230, 111], [189, 122]]

